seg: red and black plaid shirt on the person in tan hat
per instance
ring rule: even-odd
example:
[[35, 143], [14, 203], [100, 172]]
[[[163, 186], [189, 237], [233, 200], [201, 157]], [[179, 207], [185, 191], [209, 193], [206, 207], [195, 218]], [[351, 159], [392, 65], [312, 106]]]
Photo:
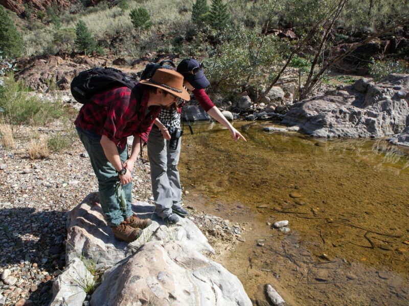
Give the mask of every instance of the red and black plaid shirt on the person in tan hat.
[[95, 94], [82, 106], [75, 120], [75, 125], [83, 130], [105, 135], [123, 149], [126, 137], [140, 136], [148, 141], [149, 131], [160, 112], [160, 106], [151, 106], [148, 110], [149, 91], [137, 85], [133, 90], [142, 90], [142, 101], [138, 107], [137, 98], [128, 87], [109, 89]]

